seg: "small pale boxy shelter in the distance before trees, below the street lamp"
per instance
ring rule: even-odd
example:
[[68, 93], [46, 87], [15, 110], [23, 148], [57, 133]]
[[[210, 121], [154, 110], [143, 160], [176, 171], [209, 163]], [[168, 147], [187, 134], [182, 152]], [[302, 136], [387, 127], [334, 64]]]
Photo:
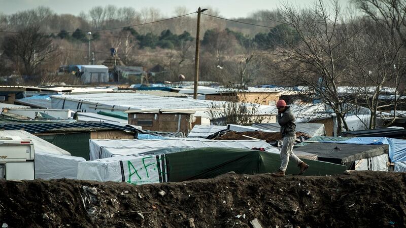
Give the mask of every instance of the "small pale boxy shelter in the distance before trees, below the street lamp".
[[109, 68], [105, 65], [82, 65], [79, 77], [84, 84], [109, 82]]

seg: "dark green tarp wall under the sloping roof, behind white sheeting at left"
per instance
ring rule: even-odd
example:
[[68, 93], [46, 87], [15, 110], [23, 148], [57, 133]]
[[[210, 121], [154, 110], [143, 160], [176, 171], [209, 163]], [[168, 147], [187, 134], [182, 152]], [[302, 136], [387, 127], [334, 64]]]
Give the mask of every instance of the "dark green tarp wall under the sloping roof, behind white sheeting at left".
[[38, 137], [68, 151], [72, 156], [89, 160], [90, 132], [39, 135]]

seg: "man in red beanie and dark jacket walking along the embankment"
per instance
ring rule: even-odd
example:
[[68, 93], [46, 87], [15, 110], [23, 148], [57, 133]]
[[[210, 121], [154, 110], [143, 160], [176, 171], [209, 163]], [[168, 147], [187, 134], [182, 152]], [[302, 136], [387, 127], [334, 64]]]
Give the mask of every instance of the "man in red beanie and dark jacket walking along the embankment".
[[281, 134], [283, 137], [283, 145], [281, 149], [281, 168], [272, 176], [285, 176], [286, 168], [288, 167], [289, 158], [293, 160], [300, 169], [299, 175], [306, 172], [309, 165], [302, 162], [296, 155], [293, 154], [293, 144], [296, 140], [296, 118], [293, 111], [286, 105], [284, 100], [278, 100], [276, 103], [278, 108], [278, 123], [281, 126]]

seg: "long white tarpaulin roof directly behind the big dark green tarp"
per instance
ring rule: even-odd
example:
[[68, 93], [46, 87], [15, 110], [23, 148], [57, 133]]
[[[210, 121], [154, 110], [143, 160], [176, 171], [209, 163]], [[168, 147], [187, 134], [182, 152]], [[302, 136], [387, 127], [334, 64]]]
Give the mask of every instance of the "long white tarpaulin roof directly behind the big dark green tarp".
[[168, 139], [91, 139], [89, 142], [90, 160], [110, 158], [123, 155], [138, 155], [152, 150], [164, 148], [199, 148], [199, 147], [228, 147], [265, 148], [266, 151], [279, 153], [262, 140], [210, 140], [204, 138], [168, 138]]

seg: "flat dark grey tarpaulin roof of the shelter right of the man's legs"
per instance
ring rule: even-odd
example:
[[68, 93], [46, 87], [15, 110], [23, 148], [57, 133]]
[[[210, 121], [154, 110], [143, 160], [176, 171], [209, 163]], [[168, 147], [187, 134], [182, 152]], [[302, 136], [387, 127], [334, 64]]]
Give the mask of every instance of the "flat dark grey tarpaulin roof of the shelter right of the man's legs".
[[315, 142], [300, 147], [300, 151], [316, 154], [319, 161], [346, 164], [356, 160], [387, 154], [388, 145]]

